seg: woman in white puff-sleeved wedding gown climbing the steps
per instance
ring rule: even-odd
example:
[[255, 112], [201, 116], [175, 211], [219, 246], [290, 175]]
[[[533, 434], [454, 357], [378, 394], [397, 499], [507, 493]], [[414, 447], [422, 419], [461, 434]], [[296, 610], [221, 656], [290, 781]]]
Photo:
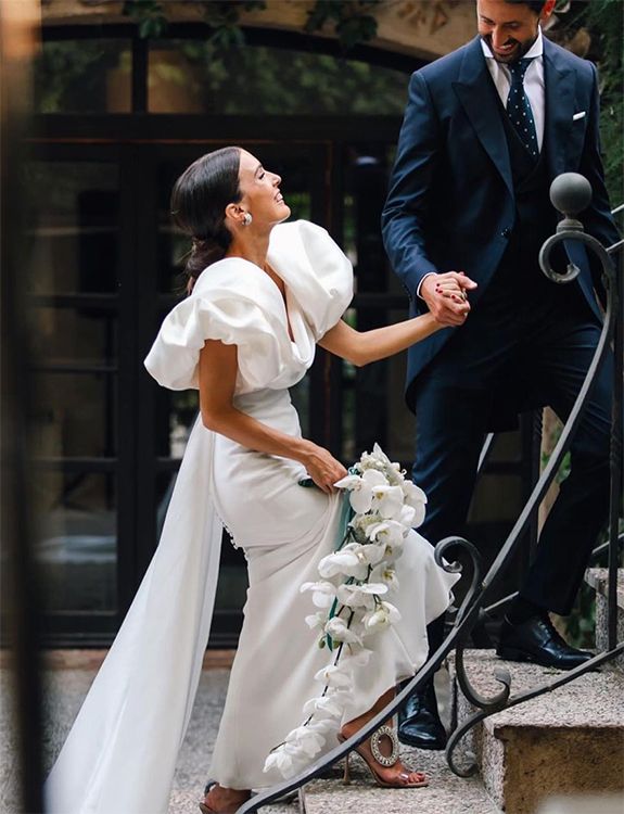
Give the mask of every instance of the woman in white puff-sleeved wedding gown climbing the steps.
[[[306, 629], [310, 600], [300, 588], [334, 550], [334, 484], [346, 470], [301, 436], [288, 389], [310, 367], [316, 344], [359, 366], [444, 326], [429, 314], [362, 333], [342, 321], [351, 264], [320, 227], [282, 222], [290, 209], [280, 183], [239, 148], [202, 156], [176, 182], [173, 215], [193, 241], [190, 296], [166, 317], [145, 366], [163, 386], [199, 389], [201, 412], [156, 552], [48, 778], [53, 814], [166, 813], [209, 633], [221, 525], [244, 550], [250, 588], [203, 812], [234, 812], [251, 789], [283, 779], [267, 756], [301, 724], [327, 663]], [[461, 290], [445, 285], [464, 319]], [[318, 488], [302, 488], [305, 479]], [[393, 601], [403, 621], [373, 637], [338, 739], [425, 661], [425, 625], [449, 603], [456, 577], [413, 531], [398, 569]], [[426, 785], [396, 759], [393, 739], [384, 728], [377, 743], [358, 748], [373, 779]]]

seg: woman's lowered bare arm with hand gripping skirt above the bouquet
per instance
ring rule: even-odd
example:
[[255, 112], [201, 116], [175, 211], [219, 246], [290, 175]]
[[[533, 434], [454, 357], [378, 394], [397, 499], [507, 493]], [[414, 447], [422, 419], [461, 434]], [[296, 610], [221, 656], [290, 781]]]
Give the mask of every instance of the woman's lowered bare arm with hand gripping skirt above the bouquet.
[[200, 409], [205, 427], [258, 453], [297, 460], [323, 492], [344, 478], [346, 469], [318, 444], [286, 435], [238, 410], [233, 405], [238, 348], [207, 340], [200, 353]]

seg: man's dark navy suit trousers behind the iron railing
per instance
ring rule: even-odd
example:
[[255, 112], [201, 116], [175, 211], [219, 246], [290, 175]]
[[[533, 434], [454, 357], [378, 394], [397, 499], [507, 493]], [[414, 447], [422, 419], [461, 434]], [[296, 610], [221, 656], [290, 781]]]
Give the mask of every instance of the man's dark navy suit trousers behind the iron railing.
[[[433, 544], [464, 534], [479, 454], [501, 389], [549, 405], [565, 421], [598, 343], [600, 326], [576, 283], [534, 277], [522, 291], [509, 282], [501, 276], [485, 292], [418, 383], [413, 481], [429, 499], [419, 531]], [[572, 609], [608, 514], [612, 365], [610, 356], [601, 366], [572, 443], [571, 472], [520, 586], [525, 599], [560, 614]]]

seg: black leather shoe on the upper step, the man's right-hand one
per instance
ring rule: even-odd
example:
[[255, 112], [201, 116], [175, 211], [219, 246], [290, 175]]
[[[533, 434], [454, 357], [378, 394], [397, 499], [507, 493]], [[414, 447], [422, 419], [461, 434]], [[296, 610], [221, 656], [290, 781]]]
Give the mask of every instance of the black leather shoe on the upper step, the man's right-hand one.
[[496, 654], [509, 661], [531, 661], [558, 670], [572, 670], [594, 656], [570, 647], [557, 633], [547, 613], [531, 616], [519, 624], [511, 624], [505, 618]]

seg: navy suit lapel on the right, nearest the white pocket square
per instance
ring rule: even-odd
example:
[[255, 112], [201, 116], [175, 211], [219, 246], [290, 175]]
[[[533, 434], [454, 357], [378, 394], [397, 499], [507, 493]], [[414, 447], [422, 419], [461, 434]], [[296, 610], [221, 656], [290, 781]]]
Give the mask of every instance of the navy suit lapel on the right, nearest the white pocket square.
[[574, 72], [565, 67], [557, 48], [544, 40], [544, 145], [550, 178], [565, 170], [565, 147], [574, 114]]

